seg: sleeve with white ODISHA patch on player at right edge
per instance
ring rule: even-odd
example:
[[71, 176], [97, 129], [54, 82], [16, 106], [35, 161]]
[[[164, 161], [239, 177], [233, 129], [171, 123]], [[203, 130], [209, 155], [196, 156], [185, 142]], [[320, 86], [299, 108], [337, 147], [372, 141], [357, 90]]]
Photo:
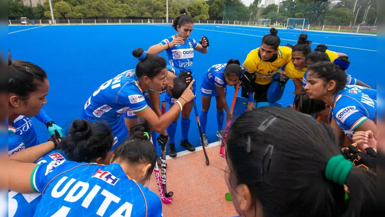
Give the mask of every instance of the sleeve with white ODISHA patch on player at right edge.
[[337, 96], [333, 115], [346, 128], [355, 131], [368, 119], [365, 107], [355, 99], [346, 96]]

